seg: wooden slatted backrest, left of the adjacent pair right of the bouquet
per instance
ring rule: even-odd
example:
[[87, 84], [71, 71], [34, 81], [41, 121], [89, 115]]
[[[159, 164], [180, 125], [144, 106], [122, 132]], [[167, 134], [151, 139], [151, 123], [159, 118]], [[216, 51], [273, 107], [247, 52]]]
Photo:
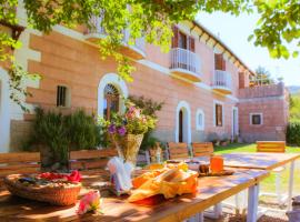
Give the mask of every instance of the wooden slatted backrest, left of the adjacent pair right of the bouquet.
[[184, 142], [169, 142], [168, 143], [168, 154], [169, 159], [188, 159], [189, 158], [189, 149], [188, 144]]

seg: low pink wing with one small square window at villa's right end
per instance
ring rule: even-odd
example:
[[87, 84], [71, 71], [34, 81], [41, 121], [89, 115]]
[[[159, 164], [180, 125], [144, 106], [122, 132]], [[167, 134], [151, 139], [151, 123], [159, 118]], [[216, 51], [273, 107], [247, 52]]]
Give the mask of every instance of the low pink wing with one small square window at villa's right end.
[[[240, 137], [244, 142], [286, 140], [289, 98], [284, 84], [240, 90]], [[261, 114], [261, 124], [251, 124], [251, 113]]]

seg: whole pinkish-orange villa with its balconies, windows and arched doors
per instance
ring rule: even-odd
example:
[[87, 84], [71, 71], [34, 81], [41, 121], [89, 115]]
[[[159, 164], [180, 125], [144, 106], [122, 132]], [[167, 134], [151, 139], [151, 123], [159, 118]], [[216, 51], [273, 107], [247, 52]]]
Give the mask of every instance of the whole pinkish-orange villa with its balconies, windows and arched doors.
[[[26, 27], [24, 13], [19, 12]], [[9, 99], [7, 70], [0, 68], [0, 152], [20, 149], [36, 105], [63, 113], [83, 108], [109, 118], [111, 111], [122, 109], [120, 95], [164, 102], [154, 135], [166, 142], [209, 141], [217, 135], [284, 140], [288, 93], [283, 83], [250, 89], [254, 73], [199, 23], [176, 26], [169, 53], [143, 39], [128, 46], [126, 33], [122, 53], [137, 70], [134, 81], [124, 82], [112, 59], [100, 59], [94, 41], [104, 34], [97, 26], [99, 19], [93, 22], [93, 30], [57, 26], [48, 36], [32, 29], [21, 33], [23, 47], [13, 52], [17, 61], [41, 79], [26, 83], [32, 97], [23, 98], [31, 110], [24, 113]]]

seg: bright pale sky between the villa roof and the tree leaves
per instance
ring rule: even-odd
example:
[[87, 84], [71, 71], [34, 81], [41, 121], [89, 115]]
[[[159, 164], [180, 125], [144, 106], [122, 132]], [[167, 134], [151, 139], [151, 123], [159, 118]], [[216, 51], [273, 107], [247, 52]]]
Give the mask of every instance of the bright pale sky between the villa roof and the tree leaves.
[[[199, 13], [197, 21], [218, 36], [250, 69], [259, 65], [270, 71], [273, 78], [283, 77], [287, 85], [300, 85], [300, 56], [296, 59], [272, 59], [264, 48], [248, 41], [253, 33], [258, 14], [239, 17], [214, 12]], [[292, 47], [291, 47], [292, 48]]]

